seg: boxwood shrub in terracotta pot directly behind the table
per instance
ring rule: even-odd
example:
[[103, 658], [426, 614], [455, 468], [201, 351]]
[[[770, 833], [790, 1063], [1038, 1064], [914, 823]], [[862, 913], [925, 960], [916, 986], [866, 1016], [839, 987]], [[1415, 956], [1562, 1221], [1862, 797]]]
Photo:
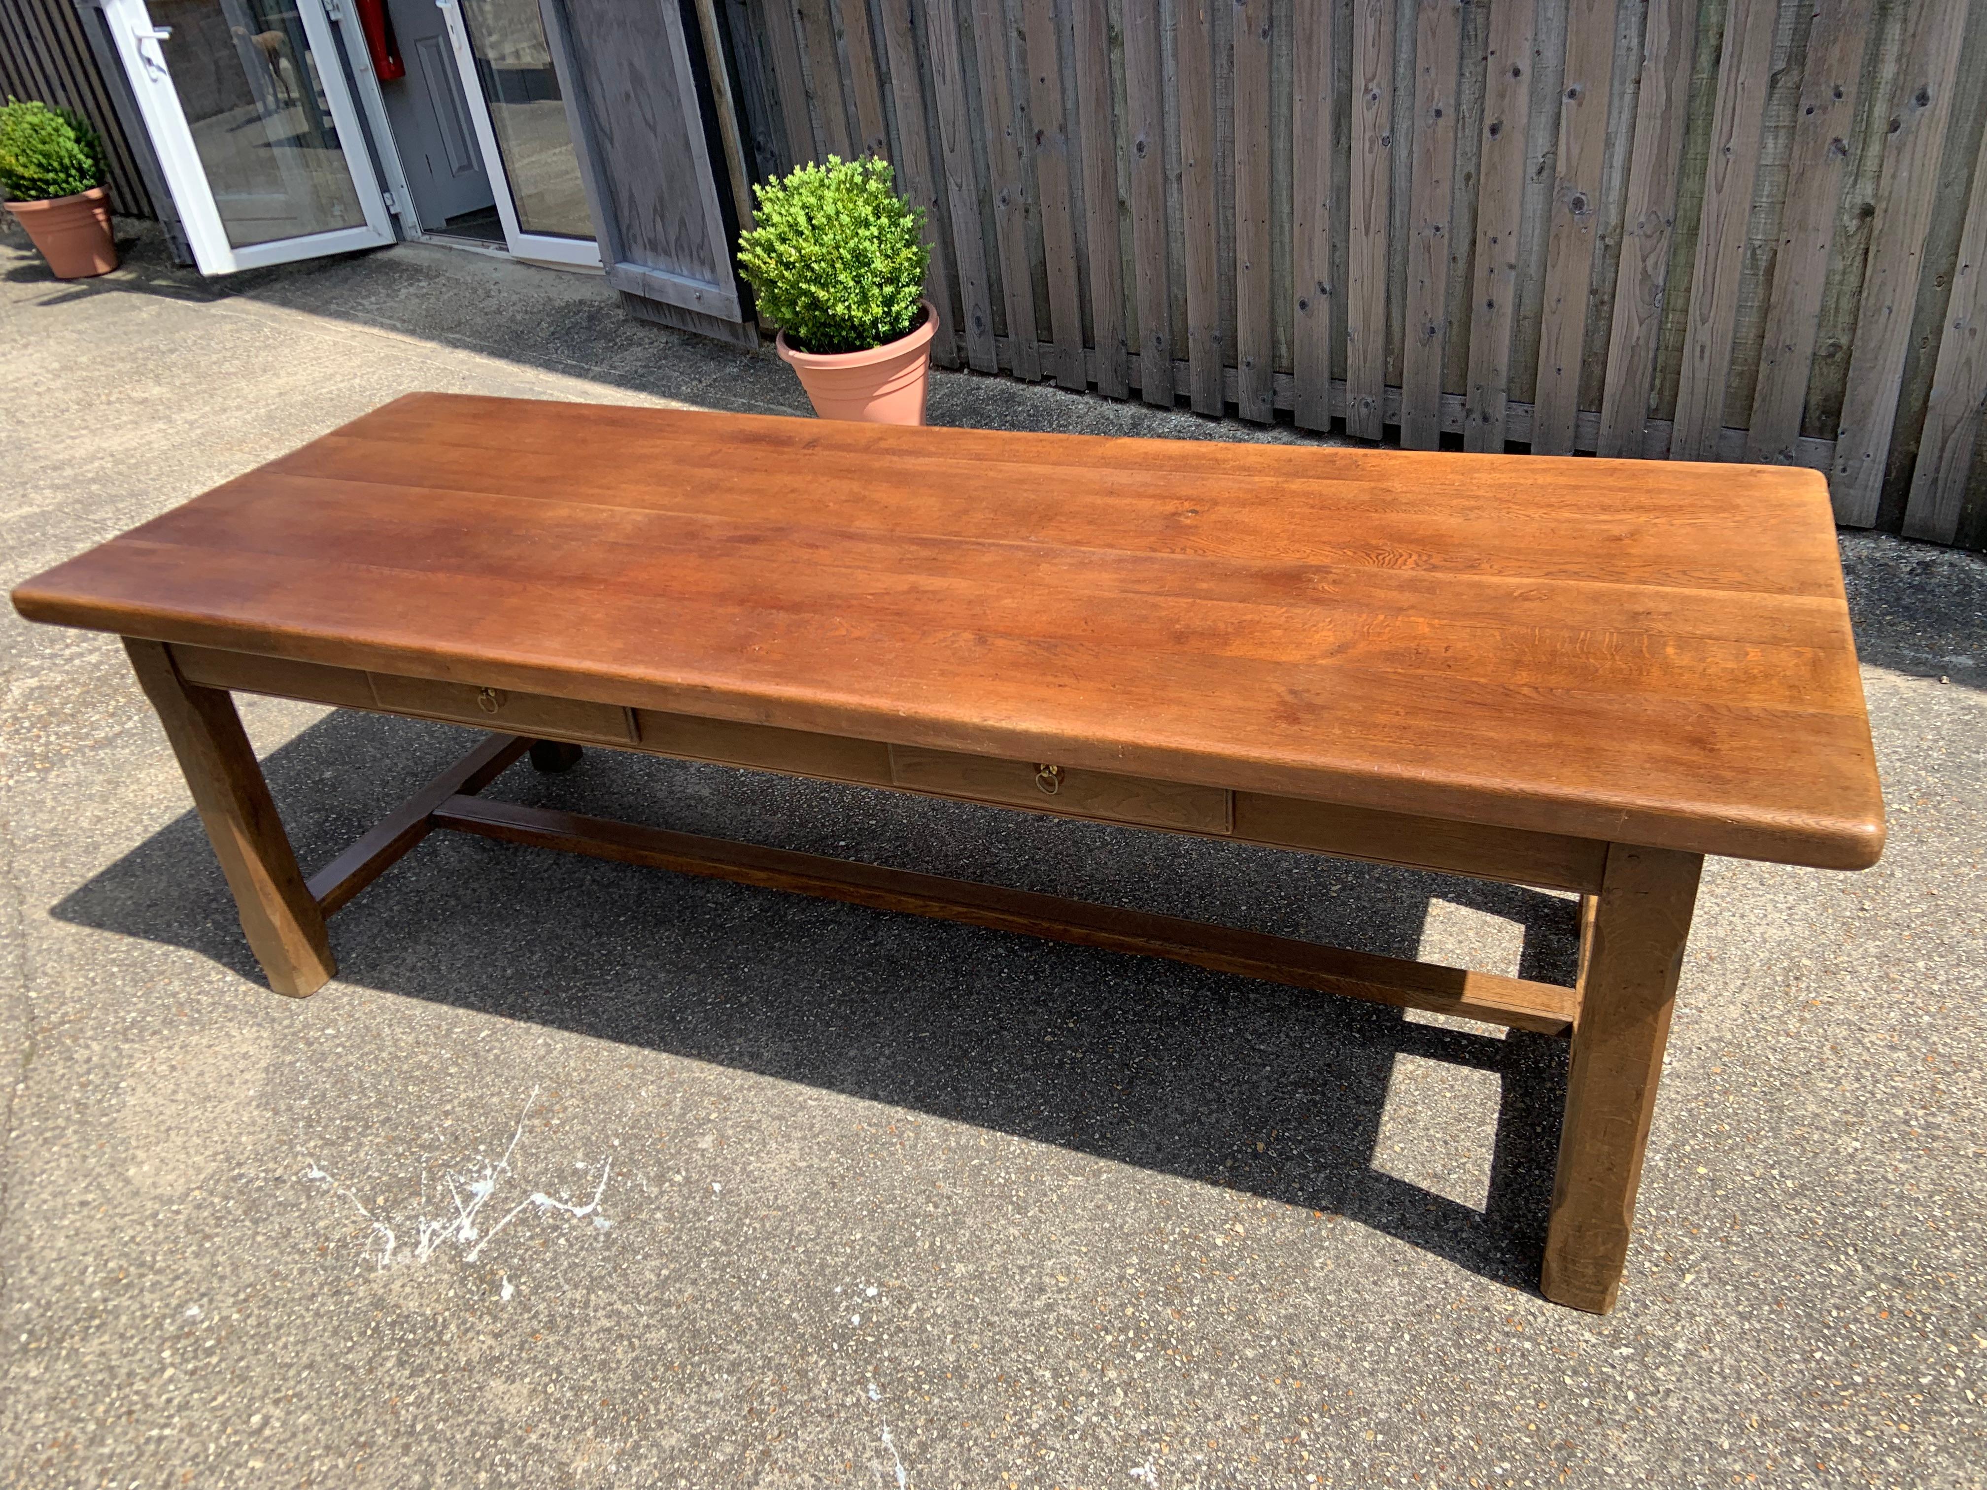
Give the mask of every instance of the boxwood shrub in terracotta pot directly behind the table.
[[922, 425], [938, 330], [924, 298], [932, 250], [890, 163], [831, 155], [753, 195], [759, 223], [739, 234], [739, 266], [815, 413]]

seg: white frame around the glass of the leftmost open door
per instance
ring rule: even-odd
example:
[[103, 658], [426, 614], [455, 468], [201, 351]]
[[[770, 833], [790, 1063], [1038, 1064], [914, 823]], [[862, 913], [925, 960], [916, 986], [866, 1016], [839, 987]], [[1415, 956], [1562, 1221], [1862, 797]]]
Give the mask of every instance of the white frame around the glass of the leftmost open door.
[[[123, 64], [137, 103], [145, 133], [151, 137], [159, 173], [165, 177], [179, 221], [193, 250], [193, 262], [203, 274], [234, 274], [244, 268], [264, 264], [288, 264], [298, 258], [318, 258], [322, 254], [344, 254], [356, 248], [380, 248], [393, 242], [393, 224], [387, 217], [385, 195], [374, 175], [372, 151], [366, 129], [346, 87], [344, 50], [332, 34], [326, 16], [326, 0], [296, 0], [296, 14], [304, 26], [304, 36], [318, 60], [318, 81], [332, 111], [332, 125], [338, 129], [340, 153], [346, 171], [352, 175], [352, 189], [360, 201], [366, 223], [328, 232], [306, 232], [296, 238], [272, 238], [236, 248], [229, 242], [221, 209], [207, 181], [207, 165], [193, 141], [193, 127], [187, 123], [179, 91], [173, 87], [173, 72], [159, 46], [161, 28], [153, 24], [145, 0], [103, 0], [103, 22], [109, 32], [117, 60]], [[171, 32], [167, 32], [171, 34]], [[308, 85], [298, 77], [298, 85]]]

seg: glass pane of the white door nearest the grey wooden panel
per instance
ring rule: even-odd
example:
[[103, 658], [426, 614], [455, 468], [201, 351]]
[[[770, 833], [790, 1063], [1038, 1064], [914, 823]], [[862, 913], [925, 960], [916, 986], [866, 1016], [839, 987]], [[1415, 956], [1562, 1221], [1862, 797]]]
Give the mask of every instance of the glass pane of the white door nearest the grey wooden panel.
[[477, 81], [525, 232], [592, 238], [566, 105], [544, 42], [538, 0], [461, 0]]

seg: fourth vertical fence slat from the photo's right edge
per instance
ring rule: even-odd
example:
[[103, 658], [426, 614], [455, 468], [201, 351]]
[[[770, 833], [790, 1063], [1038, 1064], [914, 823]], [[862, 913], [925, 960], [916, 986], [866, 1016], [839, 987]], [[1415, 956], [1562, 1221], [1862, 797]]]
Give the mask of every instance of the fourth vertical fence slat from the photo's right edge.
[[1697, 262], [1691, 270], [1691, 320], [1677, 383], [1677, 417], [1669, 435], [1671, 461], [1719, 457], [1778, 8], [1778, 0], [1733, 0], [1725, 12], [1705, 211], [1697, 224]]

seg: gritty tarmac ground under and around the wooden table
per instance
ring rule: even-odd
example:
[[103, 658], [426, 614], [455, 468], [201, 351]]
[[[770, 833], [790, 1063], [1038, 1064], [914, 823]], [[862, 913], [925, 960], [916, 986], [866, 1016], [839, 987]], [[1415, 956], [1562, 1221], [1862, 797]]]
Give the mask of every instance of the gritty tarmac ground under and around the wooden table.
[[[8, 584], [403, 391], [805, 413], [598, 278], [125, 252], [0, 234]], [[1983, 1484], [1987, 560], [1842, 550], [1890, 850], [1707, 864], [1605, 1319], [1536, 1291], [1538, 1037], [451, 834], [276, 997], [117, 642], [8, 612], [0, 1482]], [[242, 713], [306, 868], [467, 739]], [[491, 791], [1572, 969], [1532, 890], [602, 751]]]

